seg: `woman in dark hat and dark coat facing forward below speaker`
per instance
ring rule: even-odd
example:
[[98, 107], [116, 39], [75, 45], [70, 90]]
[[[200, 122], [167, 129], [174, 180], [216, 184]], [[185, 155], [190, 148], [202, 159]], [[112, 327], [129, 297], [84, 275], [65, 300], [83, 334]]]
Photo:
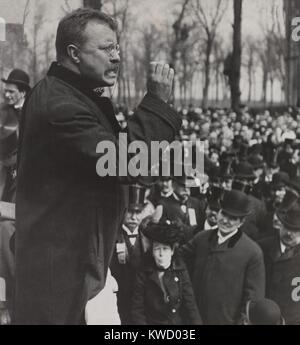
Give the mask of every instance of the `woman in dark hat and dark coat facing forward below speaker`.
[[192, 284], [175, 248], [181, 228], [174, 223], [150, 223], [145, 235], [151, 254], [137, 273], [132, 320], [139, 325], [200, 325]]

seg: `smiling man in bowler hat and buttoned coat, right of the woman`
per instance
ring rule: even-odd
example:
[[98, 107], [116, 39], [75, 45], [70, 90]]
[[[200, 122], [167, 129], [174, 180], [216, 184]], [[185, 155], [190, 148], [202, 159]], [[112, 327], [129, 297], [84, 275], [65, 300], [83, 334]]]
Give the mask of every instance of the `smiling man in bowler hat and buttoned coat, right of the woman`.
[[249, 200], [241, 191], [226, 191], [220, 202], [218, 229], [202, 231], [181, 248], [206, 325], [234, 325], [248, 301], [264, 297], [262, 251], [241, 226]]

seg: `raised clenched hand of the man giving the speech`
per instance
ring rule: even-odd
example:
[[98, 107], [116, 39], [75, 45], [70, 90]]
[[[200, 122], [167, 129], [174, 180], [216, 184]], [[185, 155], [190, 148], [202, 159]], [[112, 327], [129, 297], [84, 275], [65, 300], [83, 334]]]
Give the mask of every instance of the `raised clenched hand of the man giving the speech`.
[[171, 96], [173, 80], [174, 70], [168, 64], [163, 62], [150, 63], [148, 92], [167, 102]]

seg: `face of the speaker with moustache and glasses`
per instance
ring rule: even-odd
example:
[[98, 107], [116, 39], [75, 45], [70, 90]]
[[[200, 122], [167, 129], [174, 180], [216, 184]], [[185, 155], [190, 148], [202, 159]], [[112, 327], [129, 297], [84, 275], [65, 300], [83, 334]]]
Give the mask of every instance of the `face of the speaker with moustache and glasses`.
[[86, 26], [85, 37], [79, 52], [81, 75], [97, 86], [113, 86], [118, 77], [120, 56], [116, 49], [109, 53], [105, 48], [116, 46], [116, 33], [105, 24], [91, 21]]

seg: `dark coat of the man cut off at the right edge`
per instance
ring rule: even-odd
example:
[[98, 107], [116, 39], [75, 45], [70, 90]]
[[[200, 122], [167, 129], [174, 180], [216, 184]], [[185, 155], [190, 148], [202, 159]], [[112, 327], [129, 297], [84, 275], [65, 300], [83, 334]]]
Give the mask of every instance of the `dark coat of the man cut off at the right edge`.
[[300, 302], [292, 299], [293, 279], [300, 277], [300, 245], [282, 254], [279, 236], [259, 242], [266, 265], [266, 297], [280, 307], [288, 325], [300, 325]]

